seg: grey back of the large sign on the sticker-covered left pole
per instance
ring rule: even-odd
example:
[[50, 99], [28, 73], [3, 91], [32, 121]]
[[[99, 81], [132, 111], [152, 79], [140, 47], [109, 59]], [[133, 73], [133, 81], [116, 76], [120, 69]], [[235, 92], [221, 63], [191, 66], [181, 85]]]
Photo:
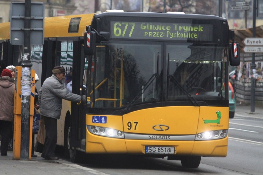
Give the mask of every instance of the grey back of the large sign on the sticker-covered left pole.
[[[30, 44], [44, 44], [43, 2], [31, 2]], [[25, 2], [12, 2], [10, 9], [10, 44], [24, 45]]]

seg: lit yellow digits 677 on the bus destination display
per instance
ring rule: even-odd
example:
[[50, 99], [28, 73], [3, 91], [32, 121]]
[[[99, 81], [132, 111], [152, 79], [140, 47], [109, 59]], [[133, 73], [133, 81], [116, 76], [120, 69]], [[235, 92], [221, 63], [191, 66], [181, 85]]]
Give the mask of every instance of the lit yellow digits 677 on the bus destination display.
[[125, 36], [125, 34], [127, 33], [129, 37], [131, 37], [134, 27], [135, 27], [135, 23], [125, 23], [125, 22], [114, 23], [114, 35]]

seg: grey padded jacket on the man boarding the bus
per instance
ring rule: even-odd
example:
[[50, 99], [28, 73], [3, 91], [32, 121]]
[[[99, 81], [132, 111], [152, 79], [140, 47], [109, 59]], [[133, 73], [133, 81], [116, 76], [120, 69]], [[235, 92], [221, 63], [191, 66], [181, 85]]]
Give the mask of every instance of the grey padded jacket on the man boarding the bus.
[[81, 96], [67, 91], [63, 83], [55, 75], [47, 78], [39, 91], [40, 114], [60, 119], [62, 99], [80, 102]]

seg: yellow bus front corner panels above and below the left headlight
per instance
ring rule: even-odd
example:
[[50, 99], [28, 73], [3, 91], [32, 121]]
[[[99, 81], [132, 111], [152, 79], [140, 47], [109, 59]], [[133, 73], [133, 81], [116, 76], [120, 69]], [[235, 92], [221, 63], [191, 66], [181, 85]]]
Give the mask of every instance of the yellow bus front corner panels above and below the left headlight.
[[[123, 131], [122, 116], [104, 115], [106, 123], [94, 123], [93, 116], [86, 115], [86, 125], [102, 126]], [[98, 117], [100, 116], [98, 115]], [[98, 136], [90, 133], [87, 128], [86, 133], [86, 153], [127, 153], [124, 139]]]

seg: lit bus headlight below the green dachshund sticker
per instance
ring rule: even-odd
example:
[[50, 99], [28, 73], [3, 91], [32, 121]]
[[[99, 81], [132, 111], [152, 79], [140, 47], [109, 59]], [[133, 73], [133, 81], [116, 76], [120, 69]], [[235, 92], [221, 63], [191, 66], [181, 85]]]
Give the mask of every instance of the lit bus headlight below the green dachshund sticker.
[[198, 133], [195, 135], [195, 140], [215, 140], [227, 137], [228, 130], [213, 130]]

